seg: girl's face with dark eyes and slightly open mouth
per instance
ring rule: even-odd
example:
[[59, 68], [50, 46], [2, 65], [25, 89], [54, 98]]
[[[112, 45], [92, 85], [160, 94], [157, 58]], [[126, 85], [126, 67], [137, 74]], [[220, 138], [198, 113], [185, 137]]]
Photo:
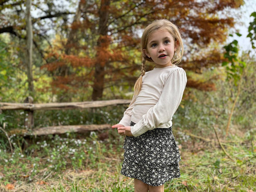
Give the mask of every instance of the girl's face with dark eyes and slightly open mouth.
[[158, 29], [148, 36], [146, 49], [143, 52], [150, 57], [156, 68], [171, 66], [174, 55], [175, 41], [171, 34], [164, 29]]

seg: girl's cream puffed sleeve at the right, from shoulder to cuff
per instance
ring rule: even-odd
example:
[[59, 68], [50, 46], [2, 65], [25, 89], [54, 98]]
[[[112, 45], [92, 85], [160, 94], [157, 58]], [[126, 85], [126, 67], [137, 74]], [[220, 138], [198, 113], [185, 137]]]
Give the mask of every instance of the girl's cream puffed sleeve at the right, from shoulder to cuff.
[[136, 137], [171, 121], [181, 103], [186, 83], [186, 73], [182, 68], [171, 72], [157, 104], [142, 116], [142, 120], [131, 127], [132, 134]]

